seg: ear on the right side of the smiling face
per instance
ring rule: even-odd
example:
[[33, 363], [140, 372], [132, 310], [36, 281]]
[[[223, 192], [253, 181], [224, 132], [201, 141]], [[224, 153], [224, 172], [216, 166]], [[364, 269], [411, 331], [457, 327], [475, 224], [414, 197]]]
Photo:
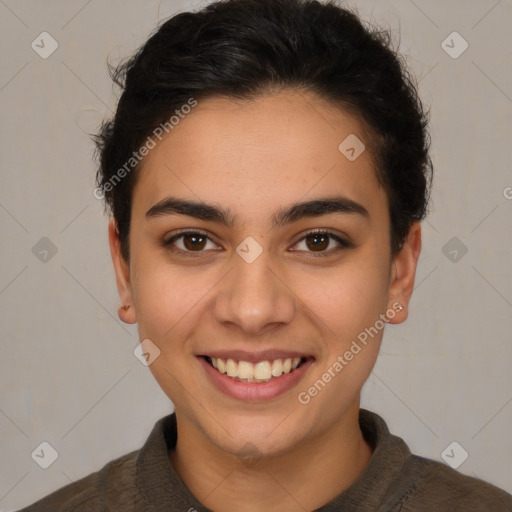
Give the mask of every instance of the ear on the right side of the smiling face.
[[[393, 310], [395, 315], [393, 317], [389, 316], [390, 324], [401, 324], [407, 319], [420, 252], [421, 226], [419, 222], [414, 222], [409, 229], [409, 234], [402, 249], [391, 264], [388, 310]], [[403, 309], [400, 309], [398, 304]]]

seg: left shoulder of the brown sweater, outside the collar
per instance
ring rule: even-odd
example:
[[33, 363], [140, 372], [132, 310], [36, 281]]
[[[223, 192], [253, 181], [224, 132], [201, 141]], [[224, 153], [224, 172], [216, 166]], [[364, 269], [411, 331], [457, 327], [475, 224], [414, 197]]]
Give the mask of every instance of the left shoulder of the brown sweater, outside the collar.
[[19, 512], [128, 511], [136, 489], [138, 453], [136, 450], [114, 459], [101, 470], [52, 492]]

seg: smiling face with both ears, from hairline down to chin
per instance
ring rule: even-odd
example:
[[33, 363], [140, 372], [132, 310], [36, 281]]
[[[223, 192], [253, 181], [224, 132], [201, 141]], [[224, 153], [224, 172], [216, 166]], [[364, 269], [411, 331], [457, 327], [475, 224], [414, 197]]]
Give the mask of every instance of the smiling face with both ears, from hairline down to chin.
[[386, 193], [369, 151], [340, 151], [350, 135], [365, 140], [357, 119], [305, 92], [204, 100], [144, 161], [129, 264], [111, 223], [122, 318], [179, 420], [226, 452], [339, 425], [384, 315], [405, 319], [419, 227], [393, 261]]

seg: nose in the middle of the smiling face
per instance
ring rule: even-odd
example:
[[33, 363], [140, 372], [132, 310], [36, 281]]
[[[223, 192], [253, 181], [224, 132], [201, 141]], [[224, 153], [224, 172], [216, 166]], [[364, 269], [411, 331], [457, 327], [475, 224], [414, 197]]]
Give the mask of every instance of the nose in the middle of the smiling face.
[[265, 251], [251, 263], [237, 254], [233, 259], [214, 302], [217, 322], [252, 336], [290, 323], [297, 309], [293, 291]]

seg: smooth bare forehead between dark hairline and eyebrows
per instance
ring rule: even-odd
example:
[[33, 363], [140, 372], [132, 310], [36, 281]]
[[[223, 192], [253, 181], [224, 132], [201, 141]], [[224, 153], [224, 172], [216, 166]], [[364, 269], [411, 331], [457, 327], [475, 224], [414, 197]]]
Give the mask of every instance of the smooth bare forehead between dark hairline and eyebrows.
[[248, 217], [327, 195], [385, 207], [370, 152], [353, 158], [365, 140], [356, 118], [311, 93], [202, 100], [146, 157], [133, 208], [168, 195]]

